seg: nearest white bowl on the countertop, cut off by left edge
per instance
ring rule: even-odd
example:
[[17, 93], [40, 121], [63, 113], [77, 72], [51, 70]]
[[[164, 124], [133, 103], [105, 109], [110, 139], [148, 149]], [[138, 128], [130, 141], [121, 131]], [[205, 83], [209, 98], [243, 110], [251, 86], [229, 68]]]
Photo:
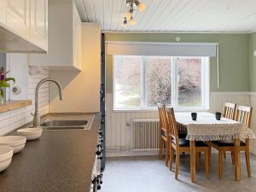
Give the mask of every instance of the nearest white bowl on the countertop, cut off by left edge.
[[0, 172], [3, 172], [11, 163], [14, 148], [9, 146], [0, 146]]

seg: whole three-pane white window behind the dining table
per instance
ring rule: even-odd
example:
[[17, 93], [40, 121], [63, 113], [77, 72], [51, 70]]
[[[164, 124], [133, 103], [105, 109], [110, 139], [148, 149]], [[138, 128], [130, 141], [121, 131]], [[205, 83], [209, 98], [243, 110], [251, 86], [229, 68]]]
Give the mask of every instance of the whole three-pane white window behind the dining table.
[[113, 56], [113, 109], [208, 109], [208, 57]]

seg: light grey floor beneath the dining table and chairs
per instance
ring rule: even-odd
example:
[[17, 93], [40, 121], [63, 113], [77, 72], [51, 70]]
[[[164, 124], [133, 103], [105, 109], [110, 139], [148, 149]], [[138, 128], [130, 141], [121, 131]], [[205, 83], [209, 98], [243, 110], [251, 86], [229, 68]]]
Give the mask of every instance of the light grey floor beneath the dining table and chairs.
[[189, 155], [182, 156], [178, 180], [174, 172], [157, 156], [108, 158], [103, 172], [101, 192], [255, 192], [256, 156], [251, 155], [252, 177], [247, 177], [244, 154], [241, 154], [241, 181], [234, 178], [230, 154], [224, 160], [223, 178], [218, 179], [218, 154], [212, 154], [212, 169], [205, 177], [204, 157], [196, 173], [197, 182], [190, 182]]

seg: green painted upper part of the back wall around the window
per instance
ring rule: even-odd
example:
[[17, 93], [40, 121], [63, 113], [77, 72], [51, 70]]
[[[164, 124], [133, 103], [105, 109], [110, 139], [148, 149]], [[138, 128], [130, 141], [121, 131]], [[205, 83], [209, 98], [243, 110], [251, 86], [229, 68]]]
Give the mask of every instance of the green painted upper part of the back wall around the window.
[[[211, 91], [248, 91], [249, 84], [249, 34], [212, 33], [106, 33], [107, 41], [149, 42], [201, 42], [219, 44], [219, 88], [217, 87], [216, 59], [211, 58]], [[256, 41], [256, 35], [253, 36]], [[254, 44], [256, 46], [256, 44]], [[255, 57], [253, 58], [255, 62]], [[112, 58], [107, 56], [107, 91], [112, 91]], [[256, 73], [255, 73], [256, 74]], [[253, 79], [256, 83], [256, 77]], [[110, 83], [111, 82], [111, 83]], [[256, 90], [256, 85], [255, 85]]]

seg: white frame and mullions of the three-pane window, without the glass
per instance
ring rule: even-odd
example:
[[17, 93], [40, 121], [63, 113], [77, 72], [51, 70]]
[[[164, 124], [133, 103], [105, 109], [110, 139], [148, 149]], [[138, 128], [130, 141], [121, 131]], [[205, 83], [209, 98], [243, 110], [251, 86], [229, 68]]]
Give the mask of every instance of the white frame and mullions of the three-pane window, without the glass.
[[[147, 107], [146, 106], [146, 88], [145, 88], [145, 65], [143, 62], [143, 57], [147, 55], [137, 55], [141, 57], [141, 103], [139, 107], [125, 107], [125, 108], [115, 108], [115, 65], [117, 61], [117, 56], [122, 55], [113, 55], [113, 111], [115, 112], [131, 112], [131, 111], [155, 111], [157, 107]], [[153, 56], [153, 55], [152, 55]], [[209, 97], [210, 97], [210, 75], [209, 75], [209, 66], [210, 58], [206, 56], [160, 56], [160, 57], [172, 57], [172, 107], [176, 111], [208, 111], [209, 110]], [[177, 58], [201, 58], [201, 98], [202, 104], [201, 107], [179, 107], [178, 106], [178, 75], [177, 75]], [[205, 84], [203, 82], [206, 82]]]

